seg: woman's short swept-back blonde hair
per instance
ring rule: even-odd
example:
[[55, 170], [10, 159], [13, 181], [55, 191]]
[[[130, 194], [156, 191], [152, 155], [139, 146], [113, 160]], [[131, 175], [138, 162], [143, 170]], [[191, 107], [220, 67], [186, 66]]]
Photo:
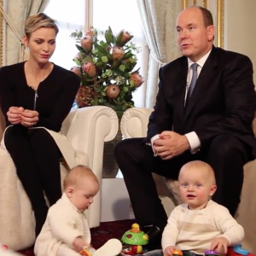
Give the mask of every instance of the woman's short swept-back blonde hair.
[[38, 15], [29, 16], [25, 21], [25, 34], [26, 38], [30, 38], [31, 33], [35, 32], [41, 27], [52, 27], [55, 29], [55, 33], [59, 32], [59, 28], [56, 25], [56, 21], [49, 18], [48, 15], [44, 13], [39, 13]]

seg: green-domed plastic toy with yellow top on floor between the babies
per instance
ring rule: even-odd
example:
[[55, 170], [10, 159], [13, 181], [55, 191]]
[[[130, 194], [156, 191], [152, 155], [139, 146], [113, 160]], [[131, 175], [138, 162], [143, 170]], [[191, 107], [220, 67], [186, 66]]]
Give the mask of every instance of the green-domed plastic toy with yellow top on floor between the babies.
[[125, 232], [122, 236], [121, 241], [123, 242], [123, 254], [135, 255], [143, 254], [143, 246], [148, 244], [148, 235], [140, 230], [138, 224], [132, 224], [131, 230]]

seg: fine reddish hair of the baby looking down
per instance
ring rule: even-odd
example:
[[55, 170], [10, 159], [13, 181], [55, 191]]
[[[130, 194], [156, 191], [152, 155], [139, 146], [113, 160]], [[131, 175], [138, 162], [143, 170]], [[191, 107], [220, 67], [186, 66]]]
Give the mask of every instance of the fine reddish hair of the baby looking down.
[[96, 181], [96, 183], [99, 183], [96, 175], [90, 170], [89, 167], [82, 165], [75, 166], [70, 170], [70, 172], [67, 173], [67, 176], [64, 179], [64, 189], [67, 189], [67, 187], [76, 185], [84, 179], [89, 178]]

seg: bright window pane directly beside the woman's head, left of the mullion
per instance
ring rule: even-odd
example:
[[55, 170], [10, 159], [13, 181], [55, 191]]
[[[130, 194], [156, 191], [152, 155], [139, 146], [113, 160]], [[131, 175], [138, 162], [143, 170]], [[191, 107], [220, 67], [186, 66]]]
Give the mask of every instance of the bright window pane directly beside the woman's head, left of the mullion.
[[70, 34], [75, 30], [84, 30], [85, 1], [50, 0], [44, 13], [55, 19], [60, 29], [56, 38], [55, 53], [50, 61], [69, 70], [75, 66], [73, 58], [78, 53]]

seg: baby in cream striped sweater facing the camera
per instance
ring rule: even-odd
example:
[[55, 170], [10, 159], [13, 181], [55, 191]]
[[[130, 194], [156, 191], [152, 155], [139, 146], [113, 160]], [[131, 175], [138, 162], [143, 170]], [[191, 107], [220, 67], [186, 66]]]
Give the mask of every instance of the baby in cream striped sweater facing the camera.
[[178, 186], [184, 203], [175, 207], [168, 218], [162, 236], [165, 256], [172, 256], [175, 249], [185, 255], [204, 254], [209, 249], [224, 255], [227, 247], [241, 242], [241, 225], [227, 208], [210, 200], [217, 189], [211, 166], [199, 160], [185, 164]]

